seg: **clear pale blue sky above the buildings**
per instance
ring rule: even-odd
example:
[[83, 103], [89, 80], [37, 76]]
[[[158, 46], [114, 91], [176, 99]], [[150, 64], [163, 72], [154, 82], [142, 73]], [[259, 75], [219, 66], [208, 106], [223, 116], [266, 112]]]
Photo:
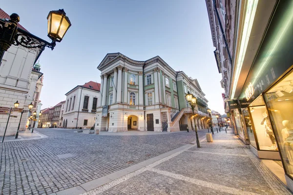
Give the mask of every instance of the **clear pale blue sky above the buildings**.
[[224, 113], [205, 0], [13, 0], [0, 8], [19, 14], [22, 26], [48, 41], [50, 10], [63, 8], [72, 23], [40, 58], [42, 108], [64, 100], [76, 85], [100, 82], [97, 66], [107, 53], [120, 52], [135, 60], [160, 56], [197, 78], [209, 108]]

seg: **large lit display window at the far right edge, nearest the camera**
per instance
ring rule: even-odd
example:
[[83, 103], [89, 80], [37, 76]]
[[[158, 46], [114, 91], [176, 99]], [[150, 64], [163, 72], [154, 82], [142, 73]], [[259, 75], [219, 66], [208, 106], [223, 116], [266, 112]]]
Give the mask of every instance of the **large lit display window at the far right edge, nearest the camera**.
[[293, 177], [293, 72], [264, 95], [284, 169]]

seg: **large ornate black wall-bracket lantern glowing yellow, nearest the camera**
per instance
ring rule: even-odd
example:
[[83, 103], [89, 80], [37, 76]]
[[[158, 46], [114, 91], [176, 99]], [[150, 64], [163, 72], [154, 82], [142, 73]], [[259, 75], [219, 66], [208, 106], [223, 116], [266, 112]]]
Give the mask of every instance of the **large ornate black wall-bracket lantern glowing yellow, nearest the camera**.
[[7, 51], [12, 44], [21, 45], [26, 48], [40, 48], [42, 49], [41, 52], [45, 47], [49, 47], [53, 50], [56, 46], [56, 41], [60, 42], [63, 39], [71, 23], [63, 9], [50, 11], [47, 20], [48, 37], [52, 39], [51, 43], [18, 28], [17, 25], [20, 21], [20, 16], [18, 14], [11, 14], [10, 20], [8, 21], [0, 19], [0, 61], [3, 58], [4, 52]]

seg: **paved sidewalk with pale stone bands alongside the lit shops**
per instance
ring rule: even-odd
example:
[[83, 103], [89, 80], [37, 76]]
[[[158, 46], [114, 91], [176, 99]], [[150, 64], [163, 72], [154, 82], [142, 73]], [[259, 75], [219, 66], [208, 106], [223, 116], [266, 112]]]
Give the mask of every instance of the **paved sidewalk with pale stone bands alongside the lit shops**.
[[186, 149], [83, 195], [291, 195], [232, 131]]

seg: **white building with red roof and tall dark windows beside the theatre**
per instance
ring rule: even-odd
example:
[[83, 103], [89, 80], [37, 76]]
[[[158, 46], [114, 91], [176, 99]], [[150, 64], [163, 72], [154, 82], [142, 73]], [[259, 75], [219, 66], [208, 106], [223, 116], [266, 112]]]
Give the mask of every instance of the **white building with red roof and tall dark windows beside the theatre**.
[[89, 81], [65, 94], [63, 128], [91, 128], [95, 125], [100, 83]]

